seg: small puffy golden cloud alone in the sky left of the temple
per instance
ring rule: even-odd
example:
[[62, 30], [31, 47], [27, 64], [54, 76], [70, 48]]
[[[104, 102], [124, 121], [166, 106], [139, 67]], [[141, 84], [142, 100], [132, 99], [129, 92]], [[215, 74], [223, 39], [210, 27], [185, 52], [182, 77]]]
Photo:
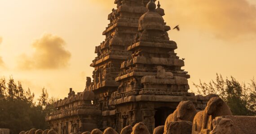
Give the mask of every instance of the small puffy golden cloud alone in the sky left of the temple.
[[61, 37], [43, 34], [32, 46], [35, 49], [32, 56], [20, 55], [20, 69], [57, 69], [68, 66], [71, 53], [65, 49], [65, 41]]

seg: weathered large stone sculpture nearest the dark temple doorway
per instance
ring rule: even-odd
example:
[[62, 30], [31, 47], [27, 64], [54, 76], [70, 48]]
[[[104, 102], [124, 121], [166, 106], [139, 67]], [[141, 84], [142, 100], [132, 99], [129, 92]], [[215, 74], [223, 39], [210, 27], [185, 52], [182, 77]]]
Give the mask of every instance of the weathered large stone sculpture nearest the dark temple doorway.
[[171, 121], [192, 122], [196, 113], [197, 110], [195, 109], [192, 101], [181, 101], [177, 106], [177, 109], [167, 117], [165, 121], [164, 131], [166, 132], [168, 123], [170, 123]]

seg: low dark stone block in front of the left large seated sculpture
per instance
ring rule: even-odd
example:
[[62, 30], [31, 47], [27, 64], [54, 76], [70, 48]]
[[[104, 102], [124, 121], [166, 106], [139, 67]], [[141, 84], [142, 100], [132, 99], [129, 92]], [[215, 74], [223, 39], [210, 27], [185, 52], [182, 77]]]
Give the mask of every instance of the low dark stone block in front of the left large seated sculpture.
[[173, 121], [168, 123], [167, 131], [163, 134], [191, 134], [192, 126], [191, 121]]

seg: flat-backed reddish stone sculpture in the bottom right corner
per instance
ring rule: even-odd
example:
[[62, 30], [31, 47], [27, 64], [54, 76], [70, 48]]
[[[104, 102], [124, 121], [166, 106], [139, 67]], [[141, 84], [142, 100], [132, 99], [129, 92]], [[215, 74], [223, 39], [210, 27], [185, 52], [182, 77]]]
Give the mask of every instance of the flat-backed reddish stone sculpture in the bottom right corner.
[[256, 134], [256, 117], [221, 116], [212, 121], [210, 134]]

